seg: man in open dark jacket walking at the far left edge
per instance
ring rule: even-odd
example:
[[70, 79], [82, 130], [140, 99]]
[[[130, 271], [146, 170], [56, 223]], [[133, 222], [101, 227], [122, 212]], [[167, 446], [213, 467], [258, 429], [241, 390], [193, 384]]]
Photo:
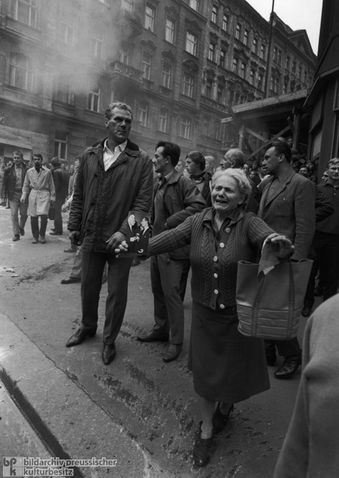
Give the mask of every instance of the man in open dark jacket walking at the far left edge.
[[[14, 151], [13, 164], [4, 171], [4, 183], [2, 192], [0, 191], [2, 198], [9, 198], [14, 241], [19, 240], [20, 235], [25, 233], [28, 202], [21, 203], [20, 198], [27, 169], [22, 152]], [[20, 222], [18, 213], [20, 213]]]

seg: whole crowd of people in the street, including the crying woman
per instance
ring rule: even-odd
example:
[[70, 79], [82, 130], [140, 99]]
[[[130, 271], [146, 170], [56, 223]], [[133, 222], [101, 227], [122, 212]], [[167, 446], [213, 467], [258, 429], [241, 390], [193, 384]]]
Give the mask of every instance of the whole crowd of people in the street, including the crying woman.
[[[181, 148], [168, 141], [154, 146], [151, 159], [130, 141], [132, 123], [128, 105], [111, 103], [105, 111], [107, 137], [76, 159], [71, 180], [59, 158], [51, 160], [50, 170], [36, 153], [34, 166], [28, 168], [21, 151], [14, 151], [13, 164], [1, 176], [1, 198], [4, 204], [9, 200], [14, 241], [24, 235], [29, 215], [32, 242], [45, 243], [51, 206], [51, 234], [63, 234], [61, 211], [69, 210], [71, 247], [65, 252], [76, 255], [70, 278], [61, 283], [81, 282], [82, 317], [66, 347], [96, 335], [98, 302], [106, 277], [101, 355], [105, 365], [116, 357], [133, 264], [132, 240], [141, 240], [143, 231], [147, 240], [151, 236], [147, 245], [145, 235], [146, 242], [136, 250], [143, 258], [151, 258], [153, 323], [150, 331], [136, 339], [168, 342], [163, 355], [166, 363], [176, 360], [183, 350], [183, 298], [191, 268], [188, 368], [193, 372], [201, 412], [193, 461], [204, 467], [211, 458], [213, 439], [227, 426], [234, 404], [270, 387], [268, 366], [275, 366], [277, 353], [283, 362], [274, 372], [276, 379], [290, 379], [302, 363], [297, 338], [264, 341], [238, 331], [238, 261], [258, 263], [264, 243], [270, 243], [279, 262], [313, 259], [302, 312], [305, 317], [312, 312], [315, 295], [323, 294], [327, 300], [337, 293], [339, 158], [329, 161], [319, 181], [314, 163], [305, 162], [293, 149], [293, 138], [270, 143], [260, 162], [249, 161], [236, 144], [218, 165], [216, 158], [201, 151], [189, 152], [183, 161]], [[136, 218], [141, 221], [138, 230]], [[330, 311], [333, 316], [333, 308]], [[319, 327], [318, 319], [311, 322]], [[311, 352], [306, 351], [308, 362]], [[304, 377], [302, 387], [306, 387]], [[307, 406], [303, 400], [298, 407]], [[305, 417], [303, 422], [305, 434], [310, 419]], [[291, 436], [295, 439], [293, 427], [288, 439]], [[288, 449], [286, 445], [286, 456]], [[280, 459], [276, 476], [297, 476], [283, 474], [286, 460]], [[303, 476], [308, 475], [298, 475]]]

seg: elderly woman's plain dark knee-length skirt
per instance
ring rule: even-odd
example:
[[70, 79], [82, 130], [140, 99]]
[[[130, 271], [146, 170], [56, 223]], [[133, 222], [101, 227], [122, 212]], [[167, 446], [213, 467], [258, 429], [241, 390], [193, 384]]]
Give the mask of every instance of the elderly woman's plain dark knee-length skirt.
[[242, 335], [236, 315], [194, 301], [188, 368], [196, 393], [216, 402], [241, 402], [270, 388], [263, 340]]

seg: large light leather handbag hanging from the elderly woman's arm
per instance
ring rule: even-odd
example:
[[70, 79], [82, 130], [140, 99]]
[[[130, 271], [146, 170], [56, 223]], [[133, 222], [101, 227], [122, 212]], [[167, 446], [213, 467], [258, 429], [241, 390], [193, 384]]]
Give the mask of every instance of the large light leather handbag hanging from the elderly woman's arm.
[[238, 330], [248, 337], [290, 340], [297, 335], [313, 260], [279, 263], [258, 277], [259, 264], [238, 262]]

